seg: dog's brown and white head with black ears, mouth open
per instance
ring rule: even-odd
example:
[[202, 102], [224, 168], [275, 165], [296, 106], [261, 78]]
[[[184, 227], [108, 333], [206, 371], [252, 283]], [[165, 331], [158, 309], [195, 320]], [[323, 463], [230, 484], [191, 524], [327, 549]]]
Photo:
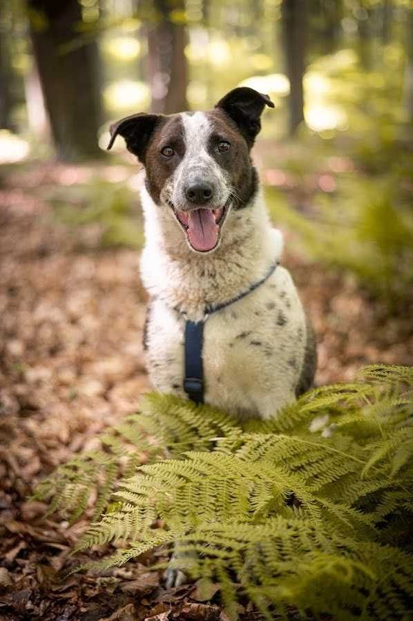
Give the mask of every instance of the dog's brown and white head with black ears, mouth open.
[[249, 152], [260, 116], [273, 103], [252, 88], [235, 88], [209, 112], [135, 114], [111, 126], [146, 169], [146, 189], [169, 210], [195, 252], [215, 250], [229, 210], [249, 204], [257, 175]]

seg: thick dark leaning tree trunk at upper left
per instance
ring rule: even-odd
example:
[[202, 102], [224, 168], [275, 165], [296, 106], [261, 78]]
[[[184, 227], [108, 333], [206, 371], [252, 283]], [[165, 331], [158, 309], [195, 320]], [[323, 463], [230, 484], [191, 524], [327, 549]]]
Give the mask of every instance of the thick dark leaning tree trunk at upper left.
[[[100, 154], [99, 62], [95, 41], [70, 46], [81, 22], [77, 0], [28, 0], [30, 34], [57, 156]], [[66, 47], [66, 49], [65, 49]]]

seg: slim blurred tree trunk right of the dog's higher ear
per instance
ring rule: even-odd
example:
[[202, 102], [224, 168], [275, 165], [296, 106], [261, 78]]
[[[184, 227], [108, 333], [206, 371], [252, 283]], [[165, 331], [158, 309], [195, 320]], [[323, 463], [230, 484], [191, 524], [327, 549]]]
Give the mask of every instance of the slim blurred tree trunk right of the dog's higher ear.
[[305, 64], [305, 0], [282, 0], [281, 23], [285, 66], [289, 79], [289, 133], [294, 135], [304, 121], [302, 77]]

